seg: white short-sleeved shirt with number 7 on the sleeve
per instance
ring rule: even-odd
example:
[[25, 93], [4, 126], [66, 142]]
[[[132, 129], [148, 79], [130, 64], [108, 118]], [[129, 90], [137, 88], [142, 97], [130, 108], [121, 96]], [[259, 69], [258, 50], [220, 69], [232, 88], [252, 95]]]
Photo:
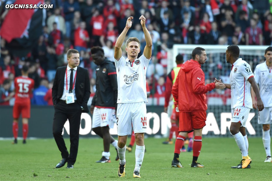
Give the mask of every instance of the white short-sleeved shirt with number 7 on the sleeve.
[[234, 62], [230, 72], [231, 109], [236, 106], [244, 106], [252, 109], [250, 83], [247, 81], [253, 77], [250, 65], [242, 58]]

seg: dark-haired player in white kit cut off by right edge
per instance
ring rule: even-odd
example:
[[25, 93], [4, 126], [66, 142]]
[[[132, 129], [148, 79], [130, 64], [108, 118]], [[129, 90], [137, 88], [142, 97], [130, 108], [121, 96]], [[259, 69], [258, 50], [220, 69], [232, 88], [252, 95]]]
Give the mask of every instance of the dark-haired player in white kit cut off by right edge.
[[[259, 84], [261, 99], [264, 101], [264, 110], [259, 112], [258, 123], [263, 125], [263, 143], [266, 152], [264, 162], [272, 162], [270, 150], [270, 124], [272, 124], [272, 47], [265, 50], [264, 57], [266, 61], [256, 66], [254, 77]], [[255, 93], [251, 89], [252, 105], [257, 109]]]

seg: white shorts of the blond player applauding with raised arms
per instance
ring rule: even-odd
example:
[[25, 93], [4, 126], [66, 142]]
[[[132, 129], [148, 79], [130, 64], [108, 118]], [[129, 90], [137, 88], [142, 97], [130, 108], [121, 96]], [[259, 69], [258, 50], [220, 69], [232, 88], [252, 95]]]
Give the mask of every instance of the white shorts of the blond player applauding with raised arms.
[[134, 133], [146, 133], [147, 108], [145, 102], [118, 103], [116, 117], [118, 136], [130, 135], [132, 127]]

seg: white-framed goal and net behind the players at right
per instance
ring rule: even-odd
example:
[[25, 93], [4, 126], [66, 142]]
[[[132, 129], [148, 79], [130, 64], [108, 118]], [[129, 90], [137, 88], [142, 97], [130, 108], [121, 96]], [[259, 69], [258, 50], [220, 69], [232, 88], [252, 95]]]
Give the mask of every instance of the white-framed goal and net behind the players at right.
[[[231, 64], [226, 62], [225, 51], [228, 46], [225, 45], [175, 44], [173, 49], [168, 52], [167, 72], [170, 72], [171, 69], [176, 66], [176, 55], [182, 54], [184, 61], [190, 60], [192, 58], [192, 50], [198, 46], [206, 50], [208, 58], [206, 63], [201, 66], [205, 73], [205, 83], [211, 83], [215, 78], [221, 79], [224, 83], [230, 83], [229, 75]], [[267, 47], [268, 46], [239, 46], [240, 58], [248, 62], [254, 72], [256, 65], [264, 62], [264, 51]], [[231, 136], [229, 133], [231, 121], [230, 90], [214, 89], [206, 95], [208, 110], [203, 134], [209, 136]], [[247, 121], [248, 135], [262, 135], [262, 126], [258, 124], [257, 114], [258, 112], [254, 109], [250, 111]]]

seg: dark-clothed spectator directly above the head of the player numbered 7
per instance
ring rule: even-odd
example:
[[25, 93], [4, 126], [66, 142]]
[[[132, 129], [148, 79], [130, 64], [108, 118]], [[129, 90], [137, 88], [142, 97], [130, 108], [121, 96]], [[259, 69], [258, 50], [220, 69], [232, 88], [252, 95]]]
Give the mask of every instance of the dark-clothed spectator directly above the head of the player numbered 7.
[[225, 17], [221, 20], [222, 33], [228, 36], [228, 43], [231, 44], [231, 39], [234, 32], [235, 22], [233, 21], [233, 11], [226, 9]]

